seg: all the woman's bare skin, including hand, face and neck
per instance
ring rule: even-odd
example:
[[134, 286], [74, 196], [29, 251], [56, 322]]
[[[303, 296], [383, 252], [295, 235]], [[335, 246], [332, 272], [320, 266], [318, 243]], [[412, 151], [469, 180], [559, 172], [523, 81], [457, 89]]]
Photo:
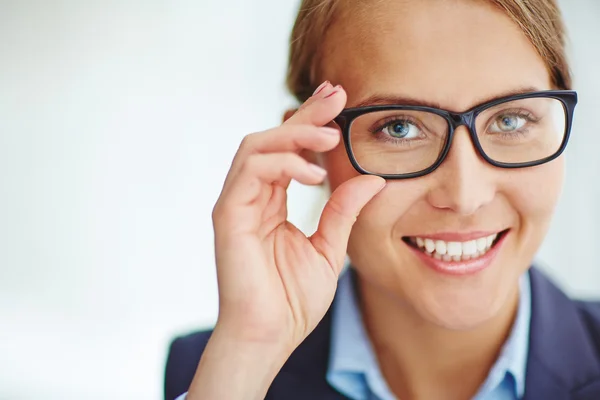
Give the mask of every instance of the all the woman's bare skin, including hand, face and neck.
[[[399, 398], [470, 398], [510, 330], [518, 278], [547, 231], [563, 159], [498, 169], [461, 127], [434, 173], [386, 183], [358, 175], [339, 134], [318, 127], [373, 95], [463, 111], [523, 87], [550, 89], [546, 65], [483, 1], [388, 0], [356, 11], [342, 11], [323, 43], [320, 77], [343, 88], [325, 85], [236, 154], [213, 213], [219, 318], [189, 399], [264, 398], [330, 306], [346, 253], [380, 367]], [[285, 190], [291, 179], [322, 183], [324, 173], [306, 161], [317, 159], [333, 193], [306, 237], [286, 221]], [[493, 264], [468, 276], [435, 272], [401, 240], [507, 228]]]

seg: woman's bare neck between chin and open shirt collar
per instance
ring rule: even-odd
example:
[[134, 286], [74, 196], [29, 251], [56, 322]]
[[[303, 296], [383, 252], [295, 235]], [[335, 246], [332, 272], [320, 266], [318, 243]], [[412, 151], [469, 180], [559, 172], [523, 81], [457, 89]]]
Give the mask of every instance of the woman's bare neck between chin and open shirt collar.
[[381, 288], [358, 279], [364, 324], [390, 389], [401, 399], [472, 398], [510, 334], [518, 285], [501, 311], [471, 330], [420, 317]]

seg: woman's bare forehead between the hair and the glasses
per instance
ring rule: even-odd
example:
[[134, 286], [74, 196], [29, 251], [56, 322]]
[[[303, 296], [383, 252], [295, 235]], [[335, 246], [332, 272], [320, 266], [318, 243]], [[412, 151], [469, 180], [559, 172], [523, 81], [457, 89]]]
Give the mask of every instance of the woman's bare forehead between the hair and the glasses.
[[344, 4], [327, 32], [320, 71], [344, 86], [348, 107], [383, 94], [462, 111], [523, 87], [550, 89], [536, 49], [489, 1]]

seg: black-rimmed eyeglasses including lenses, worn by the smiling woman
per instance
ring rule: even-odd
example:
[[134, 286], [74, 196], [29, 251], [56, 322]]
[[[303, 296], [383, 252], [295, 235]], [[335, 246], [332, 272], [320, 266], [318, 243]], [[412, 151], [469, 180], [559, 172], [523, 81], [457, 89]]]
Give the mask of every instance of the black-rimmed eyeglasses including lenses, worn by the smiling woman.
[[358, 172], [407, 179], [439, 167], [461, 125], [493, 166], [524, 168], [552, 161], [567, 146], [576, 104], [575, 91], [549, 90], [503, 97], [463, 113], [404, 105], [348, 108], [335, 122]]

